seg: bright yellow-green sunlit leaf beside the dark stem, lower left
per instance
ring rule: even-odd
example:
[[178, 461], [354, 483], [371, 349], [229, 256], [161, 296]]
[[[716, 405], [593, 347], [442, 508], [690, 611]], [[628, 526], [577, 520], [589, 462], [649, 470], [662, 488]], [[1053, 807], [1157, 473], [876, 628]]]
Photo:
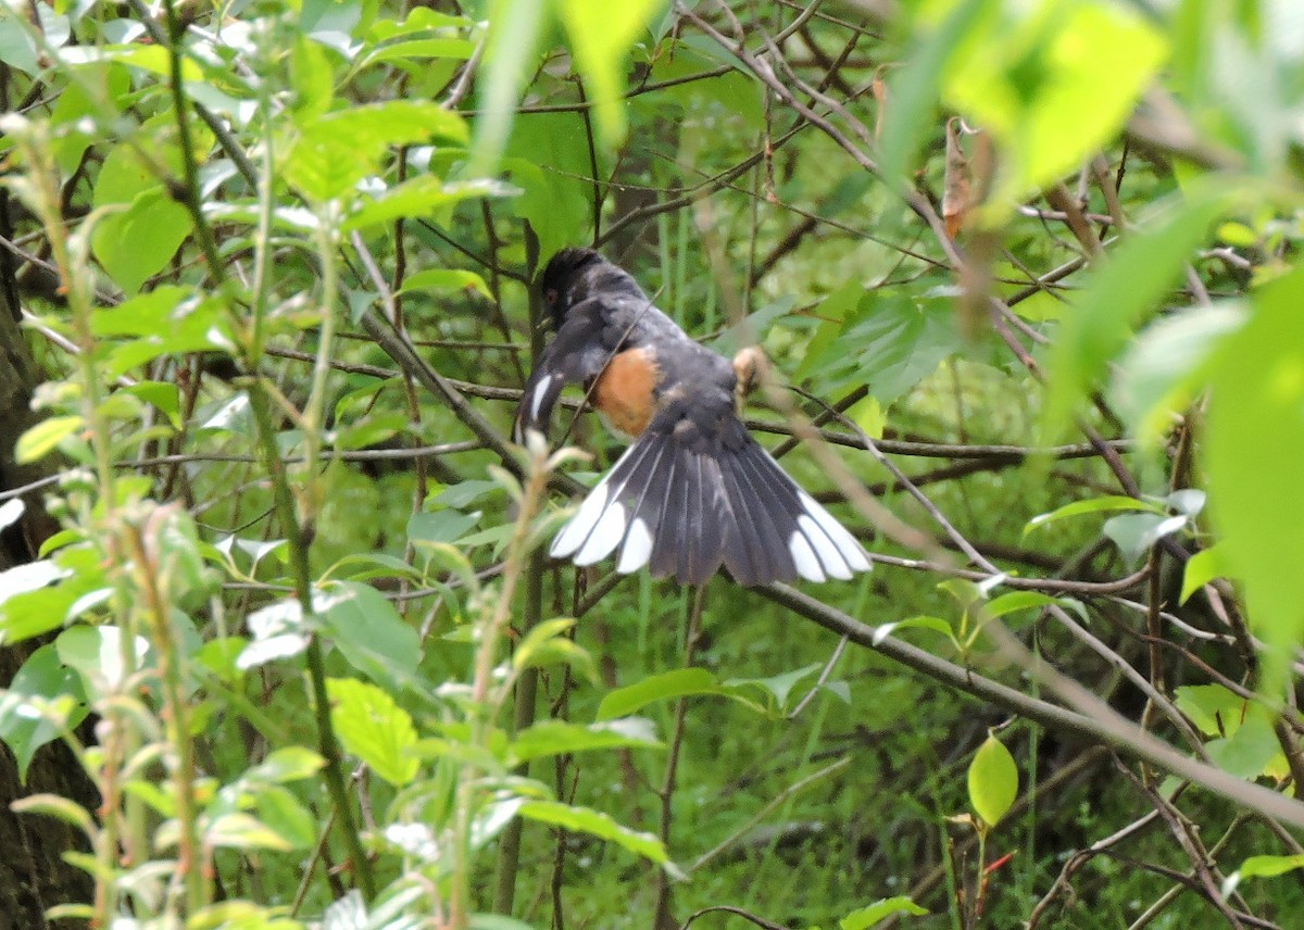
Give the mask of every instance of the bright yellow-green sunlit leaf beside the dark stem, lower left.
[[365, 681], [329, 678], [326, 691], [331, 723], [344, 749], [391, 785], [411, 783], [420, 763], [413, 755], [416, 728], [408, 712]]

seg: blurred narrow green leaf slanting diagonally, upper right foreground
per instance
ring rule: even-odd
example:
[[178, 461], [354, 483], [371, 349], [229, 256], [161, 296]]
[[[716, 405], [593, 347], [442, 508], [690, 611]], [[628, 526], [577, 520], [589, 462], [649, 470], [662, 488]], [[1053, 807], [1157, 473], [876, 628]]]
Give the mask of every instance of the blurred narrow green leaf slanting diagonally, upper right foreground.
[[1217, 194], [1183, 202], [1158, 226], [1129, 233], [1093, 271], [1051, 347], [1043, 441], [1050, 443], [1068, 430], [1081, 397], [1132, 339], [1137, 321], [1162, 303], [1183, 263], [1208, 237], [1222, 202]]

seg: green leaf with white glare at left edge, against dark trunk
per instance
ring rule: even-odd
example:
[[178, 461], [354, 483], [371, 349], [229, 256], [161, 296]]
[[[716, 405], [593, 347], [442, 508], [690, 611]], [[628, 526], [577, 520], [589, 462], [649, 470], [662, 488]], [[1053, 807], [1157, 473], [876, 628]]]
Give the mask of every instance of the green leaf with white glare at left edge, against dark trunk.
[[0, 740], [13, 751], [18, 779], [27, 780], [27, 766], [38, 749], [85, 717], [81, 677], [59, 661], [55, 647], [46, 644], [27, 656], [0, 693]]

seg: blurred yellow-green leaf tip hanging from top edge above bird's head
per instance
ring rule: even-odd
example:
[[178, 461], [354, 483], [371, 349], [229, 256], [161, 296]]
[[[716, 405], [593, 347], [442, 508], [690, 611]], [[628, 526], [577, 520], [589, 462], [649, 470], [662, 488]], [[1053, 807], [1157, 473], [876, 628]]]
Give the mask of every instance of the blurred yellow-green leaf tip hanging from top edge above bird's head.
[[562, 23], [593, 103], [599, 137], [609, 149], [625, 141], [625, 59], [666, 0], [561, 0]]

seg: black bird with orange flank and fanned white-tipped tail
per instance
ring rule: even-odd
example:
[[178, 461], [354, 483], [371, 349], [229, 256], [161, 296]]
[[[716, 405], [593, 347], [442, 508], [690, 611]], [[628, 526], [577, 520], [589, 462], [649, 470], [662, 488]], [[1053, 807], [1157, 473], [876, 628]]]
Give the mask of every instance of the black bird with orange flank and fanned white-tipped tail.
[[621, 574], [648, 566], [692, 586], [721, 565], [743, 587], [870, 570], [850, 531], [747, 432], [738, 403], [759, 350], [730, 361], [694, 342], [593, 249], [553, 256], [540, 291], [556, 333], [526, 381], [515, 441], [546, 436], [572, 383], [632, 438], [553, 539], [553, 558], [584, 566], [618, 549]]

